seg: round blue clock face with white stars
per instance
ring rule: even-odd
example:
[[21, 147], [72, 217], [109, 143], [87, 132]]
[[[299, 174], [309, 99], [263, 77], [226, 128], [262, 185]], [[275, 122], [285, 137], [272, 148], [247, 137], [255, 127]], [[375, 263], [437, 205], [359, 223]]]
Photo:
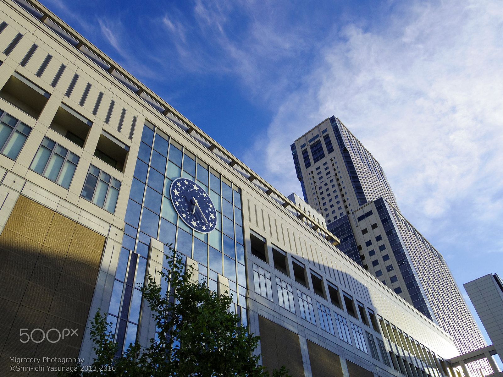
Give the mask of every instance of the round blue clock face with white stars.
[[171, 184], [170, 195], [175, 210], [185, 224], [199, 233], [209, 233], [215, 229], [215, 206], [199, 184], [187, 178], [177, 178]]

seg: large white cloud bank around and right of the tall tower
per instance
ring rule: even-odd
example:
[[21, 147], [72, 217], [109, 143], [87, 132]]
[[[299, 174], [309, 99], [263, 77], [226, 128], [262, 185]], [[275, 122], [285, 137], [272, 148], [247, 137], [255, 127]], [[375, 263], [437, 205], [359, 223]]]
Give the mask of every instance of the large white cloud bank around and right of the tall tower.
[[325, 41], [318, 66], [245, 161], [264, 164], [284, 194], [299, 193], [289, 145], [336, 115], [441, 252], [503, 251], [495, 239], [503, 232], [503, 3], [416, 2], [389, 20], [379, 31], [346, 25]]

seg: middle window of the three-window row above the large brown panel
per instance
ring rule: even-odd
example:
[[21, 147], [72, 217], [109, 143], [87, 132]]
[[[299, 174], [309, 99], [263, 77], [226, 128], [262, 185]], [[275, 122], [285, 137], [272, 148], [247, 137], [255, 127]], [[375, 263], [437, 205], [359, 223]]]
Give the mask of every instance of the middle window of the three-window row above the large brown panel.
[[35, 154], [30, 169], [68, 189], [78, 160], [79, 157], [76, 154], [45, 137]]

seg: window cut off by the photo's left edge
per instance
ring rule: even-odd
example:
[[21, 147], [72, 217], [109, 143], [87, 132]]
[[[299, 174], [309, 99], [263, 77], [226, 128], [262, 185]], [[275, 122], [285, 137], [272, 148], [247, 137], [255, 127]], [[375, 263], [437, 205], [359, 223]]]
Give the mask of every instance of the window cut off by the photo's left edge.
[[0, 153], [16, 160], [30, 135], [31, 127], [0, 110]]

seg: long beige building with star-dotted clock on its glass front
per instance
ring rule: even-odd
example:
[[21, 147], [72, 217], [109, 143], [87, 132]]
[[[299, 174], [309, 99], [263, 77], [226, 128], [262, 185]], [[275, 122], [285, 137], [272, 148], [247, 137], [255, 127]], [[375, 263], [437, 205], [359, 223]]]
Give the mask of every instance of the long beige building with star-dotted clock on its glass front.
[[[155, 325], [136, 284], [158, 279], [166, 243], [210, 289], [232, 293], [268, 368], [461, 375], [448, 361], [456, 339], [341, 251], [346, 241], [324, 216], [283, 196], [40, 3], [0, 1], [0, 61], [0, 375], [91, 363], [97, 310], [121, 351], [148, 345]], [[174, 181], [204, 191], [211, 232], [183, 217]], [[362, 194], [343, 187], [360, 217]], [[367, 228], [384, 209], [395, 216], [373, 199]]]

